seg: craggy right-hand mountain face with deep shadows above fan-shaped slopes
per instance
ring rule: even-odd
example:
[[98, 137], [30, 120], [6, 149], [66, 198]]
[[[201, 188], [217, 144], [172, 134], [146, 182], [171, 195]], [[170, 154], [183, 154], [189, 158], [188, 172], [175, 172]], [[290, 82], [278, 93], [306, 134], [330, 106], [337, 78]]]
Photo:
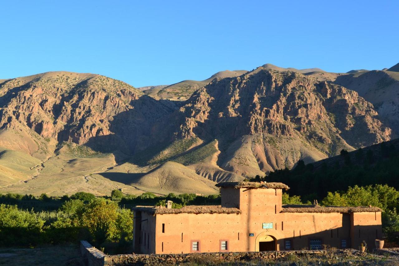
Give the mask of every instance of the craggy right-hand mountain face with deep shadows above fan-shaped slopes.
[[218, 164], [244, 176], [379, 143], [391, 134], [355, 91], [263, 67], [215, 79], [172, 117], [176, 137], [218, 139]]

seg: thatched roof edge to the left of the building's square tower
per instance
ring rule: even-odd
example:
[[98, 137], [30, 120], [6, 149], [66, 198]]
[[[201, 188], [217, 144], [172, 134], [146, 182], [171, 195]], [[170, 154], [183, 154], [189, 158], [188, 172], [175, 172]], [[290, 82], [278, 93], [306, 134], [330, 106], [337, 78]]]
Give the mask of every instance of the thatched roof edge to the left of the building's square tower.
[[135, 211], [148, 212], [149, 214], [177, 214], [177, 213], [241, 213], [238, 208], [225, 208], [221, 205], [190, 205], [179, 209], [168, 209], [164, 206], [136, 206]]

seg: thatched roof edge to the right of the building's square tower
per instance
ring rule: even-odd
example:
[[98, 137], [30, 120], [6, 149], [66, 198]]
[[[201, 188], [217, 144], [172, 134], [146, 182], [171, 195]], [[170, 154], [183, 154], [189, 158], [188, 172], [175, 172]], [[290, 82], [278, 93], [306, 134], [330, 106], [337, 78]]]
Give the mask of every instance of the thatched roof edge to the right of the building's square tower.
[[378, 207], [340, 207], [340, 206], [320, 206], [320, 205], [296, 205], [286, 204], [282, 205], [281, 212], [321, 212], [321, 213], [350, 213], [350, 212], [381, 212], [382, 210]]

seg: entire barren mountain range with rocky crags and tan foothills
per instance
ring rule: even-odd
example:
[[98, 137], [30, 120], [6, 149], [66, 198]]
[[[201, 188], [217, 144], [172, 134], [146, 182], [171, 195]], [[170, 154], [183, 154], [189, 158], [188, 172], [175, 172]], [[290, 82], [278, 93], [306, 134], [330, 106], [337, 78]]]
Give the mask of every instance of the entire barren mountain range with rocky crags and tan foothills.
[[0, 193], [215, 194], [395, 138], [399, 64], [329, 73], [266, 64], [134, 88], [102, 75], [0, 80]]

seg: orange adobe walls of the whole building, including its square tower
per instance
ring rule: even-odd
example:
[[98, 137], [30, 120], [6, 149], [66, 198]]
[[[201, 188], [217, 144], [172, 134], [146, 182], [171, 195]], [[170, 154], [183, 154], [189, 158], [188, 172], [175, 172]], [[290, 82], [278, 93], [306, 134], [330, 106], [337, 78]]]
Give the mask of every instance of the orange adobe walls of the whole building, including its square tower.
[[[371, 249], [374, 248], [376, 236], [381, 237], [381, 212], [280, 212], [281, 189], [222, 189], [222, 204], [233, 206], [238, 201], [241, 214], [180, 213], [152, 216], [143, 212], [146, 217], [143, 216], [142, 220], [147, 218], [148, 224], [142, 223], [142, 232], [146, 232], [147, 237], [150, 233], [151, 242], [150, 248], [142, 244], [140, 252], [220, 252], [220, 241], [227, 241], [229, 252], [255, 252], [259, 251], [259, 242], [267, 236], [276, 240], [276, 250], [285, 249], [284, 240], [291, 240], [291, 249], [309, 248], [312, 239], [320, 239], [322, 244], [336, 248], [342, 248], [342, 239], [346, 239], [347, 248], [358, 248], [364, 239]], [[239, 196], [235, 195], [237, 191]], [[264, 229], [263, 223], [271, 228]], [[354, 234], [358, 230], [360, 237]], [[194, 241], [199, 242], [198, 251], [191, 250]]]

